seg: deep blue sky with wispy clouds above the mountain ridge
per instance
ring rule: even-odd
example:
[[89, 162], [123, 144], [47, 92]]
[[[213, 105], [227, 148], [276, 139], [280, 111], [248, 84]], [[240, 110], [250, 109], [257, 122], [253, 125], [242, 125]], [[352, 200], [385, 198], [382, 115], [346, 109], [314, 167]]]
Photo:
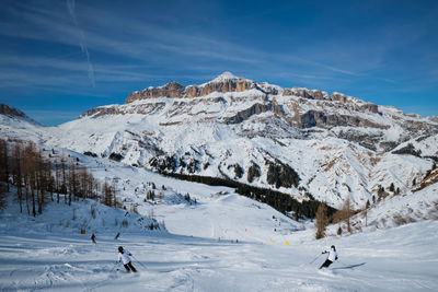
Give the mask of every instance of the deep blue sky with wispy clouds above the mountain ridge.
[[44, 125], [223, 71], [438, 115], [438, 1], [0, 3], [0, 103]]

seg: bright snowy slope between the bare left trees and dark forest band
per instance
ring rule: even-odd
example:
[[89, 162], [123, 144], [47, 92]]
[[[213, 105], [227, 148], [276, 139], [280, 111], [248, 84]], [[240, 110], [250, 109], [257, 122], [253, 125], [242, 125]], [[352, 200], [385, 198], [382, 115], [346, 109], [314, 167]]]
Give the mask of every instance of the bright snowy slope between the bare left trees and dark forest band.
[[[138, 213], [164, 222], [169, 232], [174, 234], [224, 241], [266, 243], [275, 240], [285, 244], [284, 235], [304, 229], [303, 223], [267, 205], [240, 196], [231, 188], [178, 180], [72, 151], [66, 155], [85, 165], [96, 179], [115, 180], [118, 200], [127, 210], [135, 206]], [[154, 200], [147, 199], [149, 191], [154, 192]], [[188, 200], [185, 198], [187, 195]]]

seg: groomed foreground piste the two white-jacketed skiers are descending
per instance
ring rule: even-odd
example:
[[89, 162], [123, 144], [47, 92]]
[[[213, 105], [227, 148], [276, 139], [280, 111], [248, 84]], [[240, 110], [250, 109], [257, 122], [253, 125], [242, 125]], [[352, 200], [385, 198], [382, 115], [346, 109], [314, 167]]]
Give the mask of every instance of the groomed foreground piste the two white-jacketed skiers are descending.
[[[309, 264], [323, 243], [308, 231], [289, 246], [163, 234], [101, 235], [93, 245], [83, 235], [1, 234], [0, 290], [437, 291], [437, 227], [428, 221], [335, 238], [339, 261], [327, 270], [318, 270], [324, 256]], [[132, 253], [138, 273], [116, 265], [118, 245]]]

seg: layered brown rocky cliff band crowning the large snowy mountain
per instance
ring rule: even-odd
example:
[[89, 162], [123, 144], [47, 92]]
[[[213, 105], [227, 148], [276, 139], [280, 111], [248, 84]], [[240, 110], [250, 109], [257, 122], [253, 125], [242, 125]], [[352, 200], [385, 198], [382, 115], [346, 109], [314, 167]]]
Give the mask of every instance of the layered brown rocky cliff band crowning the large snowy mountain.
[[[140, 103], [135, 103], [140, 101]], [[165, 116], [160, 125], [184, 125], [192, 117], [197, 122], [239, 125], [255, 116], [279, 117], [295, 129], [334, 130], [342, 139], [355, 140], [372, 150], [389, 151], [412, 136], [438, 132], [434, 118], [425, 119], [390, 110], [356, 97], [303, 87], [283, 89], [266, 82], [224, 72], [200, 84], [184, 86], [171, 82], [159, 87], [131, 93], [125, 105], [90, 109], [81, 117], [142, 114]], [[392, 128], [397, 137], [388, 138]], [[344, 128], [355, 128], [356, 136]]]

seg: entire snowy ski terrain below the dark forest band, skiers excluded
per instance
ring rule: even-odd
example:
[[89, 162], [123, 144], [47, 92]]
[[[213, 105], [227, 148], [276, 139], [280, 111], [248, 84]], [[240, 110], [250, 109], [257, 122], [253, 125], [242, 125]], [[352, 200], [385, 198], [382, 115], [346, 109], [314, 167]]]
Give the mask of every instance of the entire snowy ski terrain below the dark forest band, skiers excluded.
[[[2, 291], [438, 289], [438, 221], [430, 220], [437, 214], [436, 184], [377, 201], [368, 212], [368, 226], [356, 230], [355, 222], [364, 220], [360, 214], [351, 220], [351, 235], [336, 235], [336, 224], [328, 227], [326, 238], [315, 241], [313, 222], [293, 221], [231, 188], [182, 182], [106, 157], [55, 149], [62, 152], [96, 179], [116, 182], [122, 203], [127, 210], [135, 206], [139, 214], [80, 200], [71, 207], [50, 202], [43, 215], [33, 219], [20, 214], [9, 197], [7, 209], [0, 210]], [[416, 159], [411, 157], [413, 165]], [[434, 179], [428, 176], [425, 182]], [[154, 191], [154, 200], [146, 199], [148, 191]], [[14, 189], [10, 196], [16, 196]], [[405, 217], [408, 207], [422, 222]], [[397, 221], [397, 214], [407, 221]], [[149, 218], [163, 222], [169, 232], [149, 231]], [[90, 241], [91, 232], [96, 245]], [[120, 237], [114, 240], [118, 232]], [[325, 259], [321, 252], [332, 244], [339, 261], [320, 271]], [[139, 273], [128, 275], [116, 262], [120, 245], [134, 255]]]

